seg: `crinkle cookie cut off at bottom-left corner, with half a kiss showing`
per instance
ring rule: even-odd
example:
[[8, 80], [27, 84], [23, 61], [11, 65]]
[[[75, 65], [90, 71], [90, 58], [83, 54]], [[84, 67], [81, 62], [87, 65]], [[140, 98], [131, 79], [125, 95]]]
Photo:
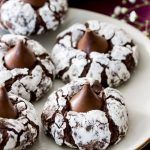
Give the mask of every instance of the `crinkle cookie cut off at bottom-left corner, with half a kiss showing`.
[[0, 149], [22, 150], [39, 135], [39, 122], [33, 105], [0, 87]]

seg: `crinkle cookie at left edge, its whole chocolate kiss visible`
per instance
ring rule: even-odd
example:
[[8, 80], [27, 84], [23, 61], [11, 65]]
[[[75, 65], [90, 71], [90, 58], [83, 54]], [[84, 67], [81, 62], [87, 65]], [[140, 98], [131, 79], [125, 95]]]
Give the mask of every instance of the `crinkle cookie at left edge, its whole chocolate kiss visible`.
[[0, 84], [28, 101], [39, 100], [51, 87], [55, 68], [38, 42], [20, 35], [0, 38]]

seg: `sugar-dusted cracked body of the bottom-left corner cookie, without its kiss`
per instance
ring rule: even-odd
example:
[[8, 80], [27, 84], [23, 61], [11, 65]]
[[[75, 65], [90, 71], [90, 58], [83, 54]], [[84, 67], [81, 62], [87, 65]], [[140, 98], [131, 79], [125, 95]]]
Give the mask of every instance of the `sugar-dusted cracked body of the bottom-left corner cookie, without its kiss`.
[[32, 145], [38, 137], [37, 114], [33, 105], [28, 101], [13, 94], [9, 94], [9, 98], [19, 116], [17, 119], [0, 118], [1, 149], [25, 149]]

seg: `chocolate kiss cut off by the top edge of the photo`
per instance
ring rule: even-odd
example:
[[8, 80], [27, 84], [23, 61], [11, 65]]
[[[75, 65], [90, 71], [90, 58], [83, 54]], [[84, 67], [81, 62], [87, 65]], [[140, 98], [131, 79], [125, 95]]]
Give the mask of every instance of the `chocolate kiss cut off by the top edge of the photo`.
[[31, 4], [35, 8], [42, 7], [44, 3], [46, 2], [46, 0], [23, 0], [23, 1]]

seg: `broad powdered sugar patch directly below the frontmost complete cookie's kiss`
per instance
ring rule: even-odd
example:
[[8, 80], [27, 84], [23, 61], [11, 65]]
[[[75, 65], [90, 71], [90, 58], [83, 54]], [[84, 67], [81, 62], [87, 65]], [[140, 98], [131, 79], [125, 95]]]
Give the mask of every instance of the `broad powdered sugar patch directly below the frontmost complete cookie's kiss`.
[[98, 110], [87, 113], [68, 112], [67, 119], [72, 130], [72, 137], [79, 149], [108, 147], [111, 133], [105, 113]]

